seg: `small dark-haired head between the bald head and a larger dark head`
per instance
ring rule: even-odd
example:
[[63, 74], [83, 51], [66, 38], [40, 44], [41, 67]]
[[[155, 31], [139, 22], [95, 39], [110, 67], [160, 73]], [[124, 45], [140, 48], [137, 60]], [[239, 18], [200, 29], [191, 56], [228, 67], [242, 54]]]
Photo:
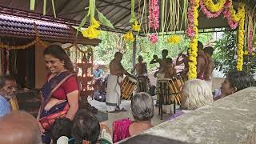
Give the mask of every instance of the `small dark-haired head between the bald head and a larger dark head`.
[[56, 144], [58, 138], [66, 136], [69, 140], [71, 138], [72, 121], [69, 118], [58, 118], [55, 120], [54, 125], [51, 127], [51, 137], [53, 143]]

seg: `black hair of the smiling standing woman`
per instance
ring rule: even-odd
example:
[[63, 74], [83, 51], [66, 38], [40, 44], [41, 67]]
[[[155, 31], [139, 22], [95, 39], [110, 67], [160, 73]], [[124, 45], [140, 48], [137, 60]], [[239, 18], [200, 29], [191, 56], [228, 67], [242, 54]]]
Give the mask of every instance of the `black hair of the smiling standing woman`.
[[62, 49], [62, 46], [50, 45], [46, 48], [46, 50], [44, 50], [43, 54], [50, 54], [54, 56], [54, 58], [58, 58], [60, 61], [64, 61], [64, 67], [66, 70], [70, 70], [70, 72], [74, 73], [74, 66], [65, 50]]

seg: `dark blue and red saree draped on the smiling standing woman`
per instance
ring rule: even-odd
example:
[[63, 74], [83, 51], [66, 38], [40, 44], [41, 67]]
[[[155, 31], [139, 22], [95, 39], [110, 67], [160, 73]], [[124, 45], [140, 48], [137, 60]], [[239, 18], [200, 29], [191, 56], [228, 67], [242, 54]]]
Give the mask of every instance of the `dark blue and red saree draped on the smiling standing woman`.
[[62, 72], [61, 74], [54, 76], [54, 78], [51, 78], [49, 82], [46, 82], [42, 86], [42, 103], [39, 110], [39, 122], [45, 130], [50, 130], [55, 119], [66, 116], [67, 110], [69, 110], [69, 104], [67, 101], [57, 103], [55, 106], [51, 107], [50, 110], [44, 110], [44, 108], [50, 101], [54, 91], [58, 90], [58, 88], [62, 86], [62, 83], [66, 82], [66, 79], [73, 75], [74, 74], [69, 71]]

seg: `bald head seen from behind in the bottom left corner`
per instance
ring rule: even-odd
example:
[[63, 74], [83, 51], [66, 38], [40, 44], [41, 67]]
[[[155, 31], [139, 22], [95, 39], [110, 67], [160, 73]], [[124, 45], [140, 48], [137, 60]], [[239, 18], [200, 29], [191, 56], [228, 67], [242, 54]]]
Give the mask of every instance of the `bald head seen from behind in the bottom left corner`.
[[14, 111], [0, 118], [0, 143], [40, 144], [38, 121], [24, 111]]

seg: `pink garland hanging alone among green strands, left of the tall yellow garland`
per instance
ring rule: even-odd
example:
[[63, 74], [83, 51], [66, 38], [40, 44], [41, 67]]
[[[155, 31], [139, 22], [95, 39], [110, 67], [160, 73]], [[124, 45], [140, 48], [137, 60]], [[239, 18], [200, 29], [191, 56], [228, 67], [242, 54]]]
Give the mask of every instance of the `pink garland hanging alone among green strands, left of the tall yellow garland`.
[[150, 23], [149, 26], [154, 30], [159, 28], [159, 5], [158, 0], [150, 0]]

